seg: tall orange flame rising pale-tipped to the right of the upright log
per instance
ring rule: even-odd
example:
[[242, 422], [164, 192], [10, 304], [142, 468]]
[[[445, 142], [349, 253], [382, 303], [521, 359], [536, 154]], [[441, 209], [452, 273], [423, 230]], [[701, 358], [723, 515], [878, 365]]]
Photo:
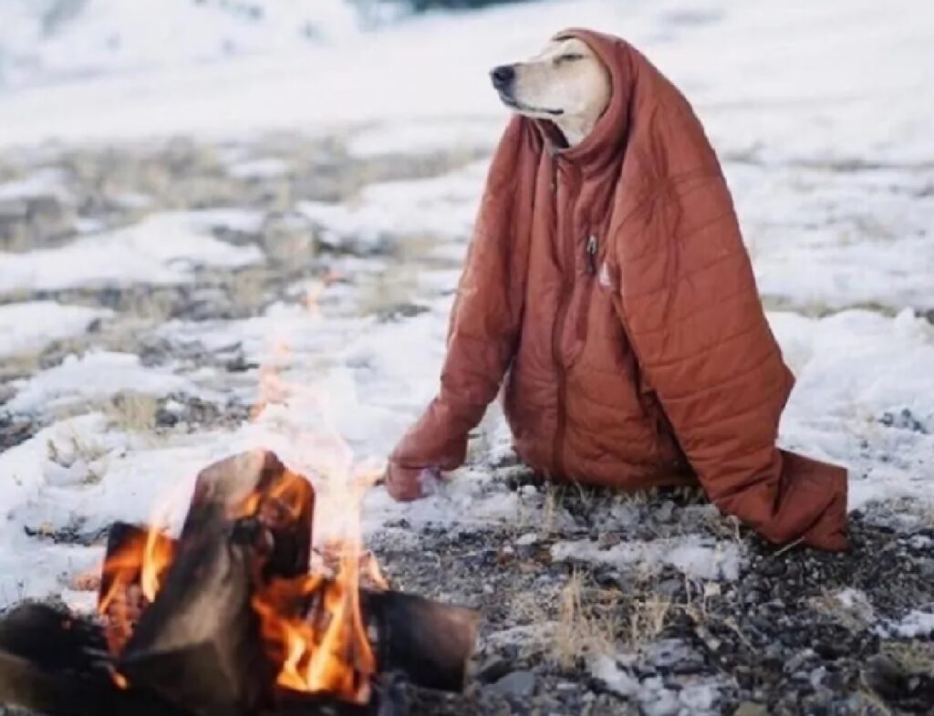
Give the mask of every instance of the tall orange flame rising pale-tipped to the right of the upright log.
[[[337, 279], [326, 277], [304, 297], [312, 318], [321, 316], [323, 288]], [[281, 456], [314, 480], [319, 561], [302, 577], [266, 585], [255, 594], [253, 608], [266, 652], [278, 668], [277, 685], [366, 703], [377, 665], [361, 611], [360, 587], [364, 583], [385, 588], [386, 581], [374, 555], [362, 548], [361, 501], [382, 474], [382, 465], [357, 463], [333, 424], [335, 401], [350, 397], [337, 395], [333, 385], [288, 380], [290, 346], [283, 340], [273, 346], [260, 371], [252, 418], [284, 439]], [[298, 426], [296, 419], [301, 421]], [[245, 509], [255, 508], [256, 500], [248, 498]]]

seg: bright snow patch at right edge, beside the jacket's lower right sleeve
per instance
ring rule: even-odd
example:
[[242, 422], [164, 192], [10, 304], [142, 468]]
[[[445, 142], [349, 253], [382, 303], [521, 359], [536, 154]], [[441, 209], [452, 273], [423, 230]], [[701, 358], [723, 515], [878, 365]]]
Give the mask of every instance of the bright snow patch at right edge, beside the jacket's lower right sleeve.
[[[791, 449], [850, 468], [849, 507], [870, 500], [934, 500], [934, 327], [905, 309], [888, 318], [772, 312], [772, 330], [798, 383], [782, 416]], [[920, 428], [884, 424], [909, 411]]]

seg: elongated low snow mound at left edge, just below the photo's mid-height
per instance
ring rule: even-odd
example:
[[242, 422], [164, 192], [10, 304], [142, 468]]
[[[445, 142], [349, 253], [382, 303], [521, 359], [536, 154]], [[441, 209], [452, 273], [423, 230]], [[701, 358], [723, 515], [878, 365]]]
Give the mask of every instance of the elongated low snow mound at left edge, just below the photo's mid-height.
[[129, 353], [92, 351], [71, 355], [54, 368], [13, 383], [16, 395], [7, 400], [10, 414], [54, 411], [81, 401], [111, 398], [121, 391], [156, 397], [191, 390], [191, 383], [172, 372], [147, 368]]

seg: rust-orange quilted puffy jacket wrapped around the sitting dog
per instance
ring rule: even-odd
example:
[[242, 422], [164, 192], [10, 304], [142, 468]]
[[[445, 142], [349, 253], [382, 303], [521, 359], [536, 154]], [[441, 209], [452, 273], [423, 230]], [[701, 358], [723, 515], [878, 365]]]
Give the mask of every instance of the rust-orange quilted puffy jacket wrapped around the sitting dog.
[[459, 467], [505, 378], [533, 468], [627, 489], [700, 481], [771, 541], [845, 549], [845, 471], [775, 446], [794, 378], [701, 123], [623, 40], [568, 35], [609, 68], [610, 105], [575, 147], [548, 122], [507, 127], [441, 389], [390, 456], [390, 493], [416, 498], [421, 470]]

